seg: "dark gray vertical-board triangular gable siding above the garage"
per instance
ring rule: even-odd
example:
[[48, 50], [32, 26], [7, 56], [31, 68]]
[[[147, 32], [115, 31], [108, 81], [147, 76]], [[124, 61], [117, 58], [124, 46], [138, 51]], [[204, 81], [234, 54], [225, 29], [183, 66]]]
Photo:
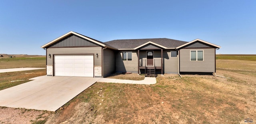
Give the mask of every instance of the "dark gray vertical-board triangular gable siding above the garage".
[[56, 47], [79, 47], [79, 46], [98, 46], [84, 38], [76, 36], [74, 34], [70, 34], [66, 36], [62, 40], [52, 44], [49, 48], [56, 48]]

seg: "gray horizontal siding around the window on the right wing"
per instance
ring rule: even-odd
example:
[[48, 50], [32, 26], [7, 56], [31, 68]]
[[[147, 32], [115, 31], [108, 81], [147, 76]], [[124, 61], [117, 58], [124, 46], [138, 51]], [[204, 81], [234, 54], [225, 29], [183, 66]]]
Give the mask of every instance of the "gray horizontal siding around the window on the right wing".
[[[204, 61], [190, 61], [190, 50], [204, 50]], [[180, 72], [215, 72], [215, 49], [181, 49]]]

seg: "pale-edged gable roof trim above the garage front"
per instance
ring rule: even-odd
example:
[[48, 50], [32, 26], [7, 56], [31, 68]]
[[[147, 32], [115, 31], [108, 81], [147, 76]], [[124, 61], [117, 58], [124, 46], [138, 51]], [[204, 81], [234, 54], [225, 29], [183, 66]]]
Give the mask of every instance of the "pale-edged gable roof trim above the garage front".
[[106, 47], [106, 45], [103, 44], [102, 42], [99, 42], [99, 41], [94, 40], [94, 39], [92, 39], [92, 38], [89, 38], [89, 37], [87, 37], [87, 36], [78, 34], [78, 33], [76, 33], [76, 32], [70, 31], [70, 32], [68, 32], [68, 33], [66, 33], [66, 34], [64, 34], [64, 35], [62, 35], [62, 36], [60, 36], [60, 37], [58, 37], [58, 38], [52, 40], [51, 42], [48, 42], [47, 44], [44, 44], [43, 46], [41, 46], [41, 48], [47, 48], [48, 46], [50, 46], [50, 45], [52, 45], [52, 44], [54, 44], [54, 43], [56, 43], [56, 42], [62, 40], [63, 38], [66, 38], [66, 37], [69, 36], [70, 34], [74, 34], [74, 35], [76, 35], [76, 36], [79, 36], [79, 37], [81, 37], [81, 38], [84, 38], [84, 39], [86, 39], [86, 40], [88, 40], [88, 41], [90, 41], [90, 42], [93, 42], [94, 44], [97, 44], [97, 45], [99, 45], [99, 46]]

